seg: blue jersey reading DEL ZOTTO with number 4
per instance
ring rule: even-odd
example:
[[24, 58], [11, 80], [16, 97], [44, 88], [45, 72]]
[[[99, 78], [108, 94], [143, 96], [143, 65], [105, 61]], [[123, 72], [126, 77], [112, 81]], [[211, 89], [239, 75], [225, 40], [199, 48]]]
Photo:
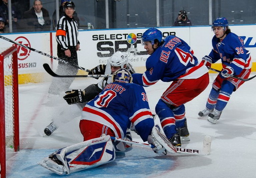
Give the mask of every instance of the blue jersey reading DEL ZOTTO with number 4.
[[208, 72], [204, 65], [199, 65], [190, 46], [178, 38], [169, 35], [164, 43], [146, 59], [146, 71], [132, 74], [133, 83], [149, 86], [159, 79], [168, 82], [175, 79], [194, 79]]

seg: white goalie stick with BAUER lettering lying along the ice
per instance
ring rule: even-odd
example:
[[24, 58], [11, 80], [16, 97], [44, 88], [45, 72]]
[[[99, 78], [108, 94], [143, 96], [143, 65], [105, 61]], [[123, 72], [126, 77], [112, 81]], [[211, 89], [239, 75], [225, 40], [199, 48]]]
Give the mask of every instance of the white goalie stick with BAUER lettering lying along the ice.
[[[142, 142], [132, 141], [132, 140], [128, 140], [128, 139], [122, 139], [122, 138], [116, 138], [114, 136], [111, 136], [111, 139], [116, 140], [116, 141], [136, 144], [136, 145], [140, 145], [140, 146], [146, 146], [146, 147], [150, 147], [150, 148], [154, 147], [153, 144], [142, 143]], [[177, 152], [179, 152], [179, 153], [208, 155], [210, 153], [210, 144], [211, 144], [210, 136], [205, 135], [204, 138], [203, 138], [203, 148], [202, 148], [202, 150], [192, 149], [192, 148], [184, 148], [184, 147], [179, 147], [179, 146], [174, 146], [174, 147], [177, 150]]]

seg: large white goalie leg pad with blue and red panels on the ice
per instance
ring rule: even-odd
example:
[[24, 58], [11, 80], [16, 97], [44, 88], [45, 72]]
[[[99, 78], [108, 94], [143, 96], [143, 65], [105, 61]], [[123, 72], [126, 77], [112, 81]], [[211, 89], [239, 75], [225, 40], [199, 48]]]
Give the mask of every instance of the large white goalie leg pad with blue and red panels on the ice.
[[56, 174], [64, 175], [96, 167], [114, 159], [113, 144], [110, 136], [106, 135], [61, 148], [38, 164]]

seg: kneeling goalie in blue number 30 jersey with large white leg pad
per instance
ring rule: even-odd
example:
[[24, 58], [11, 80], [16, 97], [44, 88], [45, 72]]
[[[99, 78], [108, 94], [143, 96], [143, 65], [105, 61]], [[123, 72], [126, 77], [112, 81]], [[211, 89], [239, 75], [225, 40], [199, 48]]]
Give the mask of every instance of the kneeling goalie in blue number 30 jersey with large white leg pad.
[[79, 128], [83, 142], [58, 149], [38, 164], [63, 175], [113, 161], [115, 151], [124, 151], [125, 145], [112, 141], [110, 136], [123, 138], [131, 123], [143, 141], [155, 146], [154, 152], [176, 152], [154, 126], [145, 90], [131, 83], [129, 71], [118, 69], [112, 80], [82, 109]]

